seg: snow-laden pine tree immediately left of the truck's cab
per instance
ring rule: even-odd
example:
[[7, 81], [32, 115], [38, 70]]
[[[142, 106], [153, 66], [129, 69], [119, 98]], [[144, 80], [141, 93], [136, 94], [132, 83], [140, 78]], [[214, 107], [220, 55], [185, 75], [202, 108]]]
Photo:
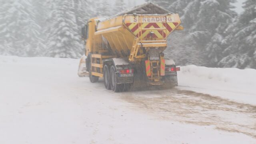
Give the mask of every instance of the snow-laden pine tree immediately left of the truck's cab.
[[74, 0], [56, 0], [51, 2], [48, 29], [47, 56], [60, 58], [79, 58], [82, 43], [78, 34]]

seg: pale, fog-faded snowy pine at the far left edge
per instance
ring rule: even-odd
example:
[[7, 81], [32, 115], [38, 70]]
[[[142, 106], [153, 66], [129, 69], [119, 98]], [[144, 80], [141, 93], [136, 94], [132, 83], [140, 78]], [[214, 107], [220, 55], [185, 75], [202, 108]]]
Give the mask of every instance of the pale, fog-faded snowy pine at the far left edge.
[[35, 56], [40, 26], [30, 0], [8, 0], [0, 12], [0, 41], [4, 54]]

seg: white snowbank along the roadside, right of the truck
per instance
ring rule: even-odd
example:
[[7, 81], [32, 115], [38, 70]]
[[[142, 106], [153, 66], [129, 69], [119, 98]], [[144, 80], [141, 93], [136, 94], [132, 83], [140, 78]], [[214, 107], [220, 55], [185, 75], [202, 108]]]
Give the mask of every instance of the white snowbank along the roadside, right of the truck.
[[178, 89], [256, 105], [256, 70], [183, 66], [178, 72]]

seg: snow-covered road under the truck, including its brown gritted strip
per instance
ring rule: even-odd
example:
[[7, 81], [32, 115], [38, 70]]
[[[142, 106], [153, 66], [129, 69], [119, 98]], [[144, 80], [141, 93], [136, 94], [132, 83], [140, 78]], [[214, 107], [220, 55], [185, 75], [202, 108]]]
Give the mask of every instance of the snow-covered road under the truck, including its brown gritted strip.
[[252, 104], [184, 81], [113, 93], [79, 78], [78, 61], [0, 56], [0, 144], [256, 143]]

